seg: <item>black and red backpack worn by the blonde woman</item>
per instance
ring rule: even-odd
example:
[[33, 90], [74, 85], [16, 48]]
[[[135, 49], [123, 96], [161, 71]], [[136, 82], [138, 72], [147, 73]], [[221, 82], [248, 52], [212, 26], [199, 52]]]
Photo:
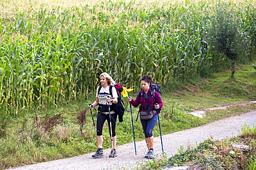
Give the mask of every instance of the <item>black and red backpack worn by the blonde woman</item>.
[[[114, 104], [112, 103], [111, 109], [115, 111], [116, 114], [118, 114], [118, 120], [119, 122], [122, 122], [122, 116], [125, 114], [125, 103], [122, 101], [122, 95], [121, 92], [123, 90], [122, 85], [116, 83], [116, 85], [111, 85], [109, 87], [109, 94], [112, 96], [112, 87], [116, 88], [116, 92], [118, 94], [118, 103]], [[98, 94], [100, 94], [100, 89], [102, 88], [102, 85], [99, 86]]]

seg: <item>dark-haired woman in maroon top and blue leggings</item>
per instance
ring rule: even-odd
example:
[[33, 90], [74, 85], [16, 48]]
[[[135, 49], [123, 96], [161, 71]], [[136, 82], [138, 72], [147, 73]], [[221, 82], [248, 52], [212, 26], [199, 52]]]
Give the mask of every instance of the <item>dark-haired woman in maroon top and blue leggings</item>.
[[140, 105], [140, 111], [150, 110], [155, 113], [149, 120], [143, 120], [140, 118], [148, 149], [145, 158], [152, 159], [154, 157], [154, 136], [152, 131], [158, 120], [158, 111], [156, 111], [156, 109], [163, 107], [163, 103], [158, 92], [154, 91], [154, 96], [152, 96], [152, 88], [150, 87], [152, 85], [151, 76], [143, 76], [140, 83], [143, 89], [139, 92], [135, 100], [129, 97], [128, 101], [131, 102], [131, 105], [134, 107], [138, 107]]

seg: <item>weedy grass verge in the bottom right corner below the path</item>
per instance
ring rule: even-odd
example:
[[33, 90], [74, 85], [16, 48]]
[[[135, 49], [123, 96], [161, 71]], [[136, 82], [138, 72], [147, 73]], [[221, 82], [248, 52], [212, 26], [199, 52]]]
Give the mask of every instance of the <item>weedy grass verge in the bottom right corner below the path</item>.
[[181, 149], [171, 158], [154, 159], [138, 169], [255, 169], [256, 127], [244, 126], [242, 133], [223, 140], [208, 139], [195, 148]]

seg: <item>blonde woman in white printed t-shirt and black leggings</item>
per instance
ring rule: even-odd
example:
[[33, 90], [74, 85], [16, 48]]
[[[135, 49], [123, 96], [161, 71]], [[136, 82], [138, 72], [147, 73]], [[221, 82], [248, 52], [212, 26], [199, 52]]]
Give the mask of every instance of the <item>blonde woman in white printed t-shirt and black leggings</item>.
[[[107, 120], [109, 125], [109, 135], [111, 137], [111, 153], [109, 158], [115, 158], [117, 156], [116, 153], [116, 118], [117, 114], [111, 108], [112, 103], [118, 103], [118, 94], [116, 92], [116, 88], [113, 87], [116, 82], [113, 81], [113, 78], [103, 72], [100, 74], [100, 86], [97, 87], [96, 98], [92, 105], [89, 105], [88, 108], [98, 107], [98, 115], [97, 115], [97, 142], [98, 142], [98, 150], [93, 154], [93, 158], [102, 158], [104, 156], [102, 149], [102, 129], [104, 122]], [[113, 88], [112, 88], [113, 87]], [[111, 93], [110, 93], [111, 90]], [[112, 94], [112, 96], [111, 96]]]

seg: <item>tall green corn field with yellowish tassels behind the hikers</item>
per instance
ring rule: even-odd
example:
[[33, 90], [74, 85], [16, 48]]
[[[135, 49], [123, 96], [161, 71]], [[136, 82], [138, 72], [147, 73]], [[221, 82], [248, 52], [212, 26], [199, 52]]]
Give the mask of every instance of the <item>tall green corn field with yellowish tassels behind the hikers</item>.
[[[255, 1], [228, 3], [255, 39]], [[230, 63], [211, 52], [204, 38], [216, 6], [212, 1], [2, 0], [1, 110], [86, 98], [102, 72], [132, 88], [140, 88], [141, 76], [149, 74], [167, 89], [226, 70]]]

